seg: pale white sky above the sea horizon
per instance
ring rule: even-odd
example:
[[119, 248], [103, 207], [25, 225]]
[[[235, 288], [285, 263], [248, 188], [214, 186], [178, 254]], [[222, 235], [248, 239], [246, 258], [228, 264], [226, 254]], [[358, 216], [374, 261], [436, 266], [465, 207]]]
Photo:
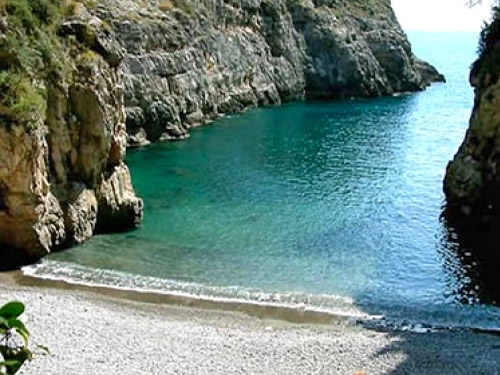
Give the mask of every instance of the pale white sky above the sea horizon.
[[479, 31], [494, 0], [469, 8], [467, 0], [392, 0], [406, 31]]

